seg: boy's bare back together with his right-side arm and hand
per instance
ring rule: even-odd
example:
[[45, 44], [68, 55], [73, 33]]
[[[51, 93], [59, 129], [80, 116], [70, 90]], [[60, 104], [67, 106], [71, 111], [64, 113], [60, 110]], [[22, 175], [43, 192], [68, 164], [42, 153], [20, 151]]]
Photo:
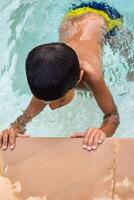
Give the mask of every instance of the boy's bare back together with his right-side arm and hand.
[[106, 23], [97, 14], [86, 13], [80, 17], [66, 19], [60, 29], [60, 40], [71, 46], [79, 57], [81, 70], [84, 71], [82, 83], [90, 88], [104, 115], [109, 117], [100, 128], [89, 128], [85, 133], [74, 133], [72, 137], [84, 137], [83, 148], [96, 149], [105, 136], [112, 136], [119, 125], [117, 108], [107, 88], [102, 73], [102, 43]]

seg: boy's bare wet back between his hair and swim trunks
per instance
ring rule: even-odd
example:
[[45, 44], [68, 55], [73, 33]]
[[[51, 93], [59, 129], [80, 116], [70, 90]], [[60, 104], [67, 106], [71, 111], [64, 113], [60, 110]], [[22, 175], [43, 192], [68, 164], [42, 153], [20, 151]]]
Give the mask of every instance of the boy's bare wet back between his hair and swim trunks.
[[80, 63], [101, 65], [101, 45], [106, 32], [104, 19], [95, 13], [69, 17], [60, 28], [60, 41], [71, 46], [78, 54]]

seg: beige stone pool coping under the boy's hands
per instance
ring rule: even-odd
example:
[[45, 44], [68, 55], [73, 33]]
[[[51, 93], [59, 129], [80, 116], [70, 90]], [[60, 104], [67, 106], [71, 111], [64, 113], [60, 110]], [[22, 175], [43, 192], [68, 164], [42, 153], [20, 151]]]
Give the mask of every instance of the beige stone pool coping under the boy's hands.
[[82, 139], [17, 138], [14, 151], [0, 151], [0, 166], [13, 183], [20, 181], [23, 198], [134, 200], [131, 138], [107, 138], [91, 152]]

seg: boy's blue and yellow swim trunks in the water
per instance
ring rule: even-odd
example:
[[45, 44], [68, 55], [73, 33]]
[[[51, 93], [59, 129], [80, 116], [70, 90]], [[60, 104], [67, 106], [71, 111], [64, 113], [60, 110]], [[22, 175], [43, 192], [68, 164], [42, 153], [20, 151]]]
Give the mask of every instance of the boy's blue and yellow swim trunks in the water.
[[70, 11], [65, 15], [69, 16], [80, 16], [84, 13], [96, 13], [103, 16], [107, 23], [107, 37], [114, 36], [116, 29], [123, 23], [123, 16], [113, 7], [103, 2], [82, 2], [80, 5], [72, 4]]

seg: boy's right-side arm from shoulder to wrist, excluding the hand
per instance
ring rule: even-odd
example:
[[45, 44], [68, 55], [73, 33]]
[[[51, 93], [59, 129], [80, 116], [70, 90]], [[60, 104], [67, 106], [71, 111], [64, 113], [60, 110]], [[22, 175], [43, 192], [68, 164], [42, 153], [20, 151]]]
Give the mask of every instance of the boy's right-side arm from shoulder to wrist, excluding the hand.
[[104, 113], [103, 123], [100, 127], [107, 137], [112, 136], [119, 125], [119, 114], [113, 97], [107, 88], [103, 75], [92, 71], [86, 75], [86, 84], [91, 88], [94, 97]]

